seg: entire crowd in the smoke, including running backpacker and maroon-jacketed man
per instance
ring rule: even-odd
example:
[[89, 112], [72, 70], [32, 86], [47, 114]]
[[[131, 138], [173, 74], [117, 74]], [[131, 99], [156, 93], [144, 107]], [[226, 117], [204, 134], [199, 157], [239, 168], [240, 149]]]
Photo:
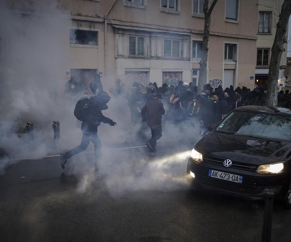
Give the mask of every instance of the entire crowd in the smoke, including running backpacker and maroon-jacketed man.
[[[65, 96], [70, 94], [80, 96], [83, 84], [76, 82], [74, 78], [71, 79], [66, 83]], [[139, 134], [145, 133], [147, 129], [145, 123], [150, 127], [152, 137], [146, 142], [150, 151], [156, 151], [156, 141], [162, 136], [162, 124], [165, 122], [173, 124], [188, 122], [187, 125], [198, 127], [202, 135], [207, 132], [208, 126], [218, 124], [235, 108], [243, 105], [264, 105], [266, 97], [266, 93], [260, 88], [251, 91], [247, 87], [234, 89], [230, 86], [223, 90], [221, 85], [213, 89], [210, 84], [206, 84], [204, 90], [198, 93], [198, 87], [192, 82], [179, 81], [176, 87], [165, 83], [158, 87], [156, 82], [150, 82], [145, 87], [139, 82], [133, 82], [131, 87], [126, 87], [124, 84], [121, 85], [120, 79], [115, 80], [109, 93], [114, 98], [126, 99], [131, 113], [131, 125], [142, 124], [138, 130]], [[101, 122], [110, 126], [116, 125], [116, 122], [102, 115], [102, 110], [108, 108], [106, 104], [110, 98], [109, 94], [103, 91], [100, 75], [94, 75], [90, 89], [81, 95], [74, 111], [77, 119], [82, 122], [82, 141], [76, 148], [61, 154], [63, 169], [67, 160], [85, 150], [90, 141], [94, 144], [95, 165], [96, 169], [98, 168], [101, 141], [97, 135], [97, 127]], [[280, 92], [278, 101], [285, 106], [291, 105], [291, 95]]]

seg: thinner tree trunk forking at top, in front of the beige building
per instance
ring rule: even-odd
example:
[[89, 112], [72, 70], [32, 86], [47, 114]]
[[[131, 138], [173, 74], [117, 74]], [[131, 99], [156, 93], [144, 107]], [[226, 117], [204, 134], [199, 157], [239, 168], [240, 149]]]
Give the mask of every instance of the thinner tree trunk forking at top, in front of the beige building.
[[204, 84], [207, 83], [207, 59], [208, 59], [208, 40], [210, 31], [210, 15], [216, 4], [217, 0], [214, 0], [209, 7], [209, 0], [204, 0], [204, 33], [203, 33], [203, 43], [202, 43], [202, 58], [199, 62], [199, 78], [198, 78], [198, 94], [203, 90]]

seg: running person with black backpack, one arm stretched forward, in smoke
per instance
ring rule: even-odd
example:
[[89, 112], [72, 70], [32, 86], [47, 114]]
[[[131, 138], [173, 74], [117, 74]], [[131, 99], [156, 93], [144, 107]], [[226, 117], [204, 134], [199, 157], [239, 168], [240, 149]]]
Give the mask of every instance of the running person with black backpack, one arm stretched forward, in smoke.
[[95, 170], [97, 170], [97, 162], [101, 157], [101, 141], [97, 135], [97, 128], [101, 122], [110, 126], [116, 125], [116, 122], [102, 114], [102, 110], [108, 108], [107, 103], [109, 100], [110, 96], [107, 92], [101, 91], [92, 98], [85, 98], [77, 102], [74, 115], [78, 120], [83, 121], [81, 127], [83, 137], [79, 146], [66, 153], [61, 153], [61, 167], [63, 169], [65, 169], [68, 159], [87, 149], [91, 141], [94, 144]]

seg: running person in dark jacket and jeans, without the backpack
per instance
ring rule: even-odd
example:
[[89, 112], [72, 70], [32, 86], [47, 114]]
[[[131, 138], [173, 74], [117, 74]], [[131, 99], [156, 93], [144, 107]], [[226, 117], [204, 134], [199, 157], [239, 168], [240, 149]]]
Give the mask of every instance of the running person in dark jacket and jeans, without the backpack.
[[100, 123], [105, 123], [110, 126], [116, 125], [110, 118], [105, 117], [102, 114], [102, 110], [107, 109], [106, 103], [110, 100], [110, 96], [102, 91], [92, 98], [90, 105], [90, 115], [87, 117], [86, 121], [82, 123], [81, 130], [83, 132], [83, 137], [81, 144], [66, 153], [61, 154], [61, 167], [65, 169], [65, 164], [68, 159], [73, 155], [81, 153], [88, 148], [90, 141], [94, 144], [94, 153], [95, 153], [95, 169], [97, 169], [97, 161], [101, 157], [101, 141], [97, 135], [97, 127]]

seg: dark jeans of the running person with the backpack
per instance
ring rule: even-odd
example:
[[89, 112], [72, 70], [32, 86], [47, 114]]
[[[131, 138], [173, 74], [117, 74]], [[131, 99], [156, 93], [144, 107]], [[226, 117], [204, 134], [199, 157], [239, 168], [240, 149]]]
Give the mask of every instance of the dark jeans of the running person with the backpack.
[[97, 161], [101, 158], [101, 140], [99, 139], [97, 133], [96, 134], [88, 134], [83, 133], [81, 144], [70, 151], [66, 152], [66, 158], [69, 159], [73, 155], [76, 155], [78, 153], [81, 153], [85, 149], [88, 148], [88, 145], [92, 141], [94, 144], [94, 153], [95, 153], [95, 164], [97, 164]]

